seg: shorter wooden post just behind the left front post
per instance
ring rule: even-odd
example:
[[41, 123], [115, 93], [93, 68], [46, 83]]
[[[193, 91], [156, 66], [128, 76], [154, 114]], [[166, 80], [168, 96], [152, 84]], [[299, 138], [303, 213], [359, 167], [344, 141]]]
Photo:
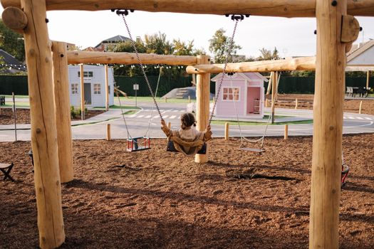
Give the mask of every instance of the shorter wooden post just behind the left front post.
[[71, 181], [74, 177], [67, 51], [66, 43], [53, 41], [53, 91], [61, 183]]

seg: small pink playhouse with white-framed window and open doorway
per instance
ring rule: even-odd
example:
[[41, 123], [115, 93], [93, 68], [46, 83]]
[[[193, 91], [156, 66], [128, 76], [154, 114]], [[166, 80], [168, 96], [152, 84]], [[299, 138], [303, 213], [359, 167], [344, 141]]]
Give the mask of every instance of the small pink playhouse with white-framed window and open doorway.
[[[221, 78], [222, 73], [212, 78], [216, 83], [216, 93]], [[264, 117], [264, 82], [268, 81], [259, 73], [225, 74], [215, 117], [232, 119], [237, 118], [237, 114], [240, 120]]]

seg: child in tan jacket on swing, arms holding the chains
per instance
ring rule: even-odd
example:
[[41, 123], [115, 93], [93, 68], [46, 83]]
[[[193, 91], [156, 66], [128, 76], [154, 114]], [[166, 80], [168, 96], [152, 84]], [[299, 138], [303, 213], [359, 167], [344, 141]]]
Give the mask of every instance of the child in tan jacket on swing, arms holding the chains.
[[161, 129], [166, 134], [167, 139], [174, 142], [174, 147], [178, 152], [185, 156], [194, 156], [197, 154], [204, 142], [212, 139], [212, 131], [210, 125], [204, 132], [199, 132], [196, 127], [196, 121], [192, 113], [184, 113], [180, 116], [180, 129], [171, 130], [167, 127], [165, 120], [161, 120]]

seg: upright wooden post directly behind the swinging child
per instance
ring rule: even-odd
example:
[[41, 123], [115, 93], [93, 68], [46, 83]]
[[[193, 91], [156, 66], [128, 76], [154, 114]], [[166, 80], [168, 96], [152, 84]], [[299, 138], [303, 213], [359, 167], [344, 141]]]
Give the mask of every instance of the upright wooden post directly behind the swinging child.
[[[197, 64], [209, 64], [210, 57], [207, 55], [197, 55]], [[197, 129], [203, 132], [207, 129], [209, 121], [210, 102], [210, 73], [199, 74], [196, 77], [196, 117]], [[194, 161], [205, 163], [209, 159], [209, 144], [207, 144], [206, 154], [196, 154]]]

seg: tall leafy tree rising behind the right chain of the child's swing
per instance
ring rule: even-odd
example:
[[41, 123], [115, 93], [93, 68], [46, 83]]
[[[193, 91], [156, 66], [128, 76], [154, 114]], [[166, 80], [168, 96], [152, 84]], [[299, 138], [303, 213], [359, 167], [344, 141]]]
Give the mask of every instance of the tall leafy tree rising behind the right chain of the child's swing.
[[[230, 38], [224, 35], [225, 32], [223, 28], [219, 28], [212, 39], [209, 39], [209, 51], [214, 55], [214, 63], [224, 63], [229, 51]], [[233, 41], [230, 56], [236, 55], [237, 49], [241, 49], [241, 46], [236, 45]]]

